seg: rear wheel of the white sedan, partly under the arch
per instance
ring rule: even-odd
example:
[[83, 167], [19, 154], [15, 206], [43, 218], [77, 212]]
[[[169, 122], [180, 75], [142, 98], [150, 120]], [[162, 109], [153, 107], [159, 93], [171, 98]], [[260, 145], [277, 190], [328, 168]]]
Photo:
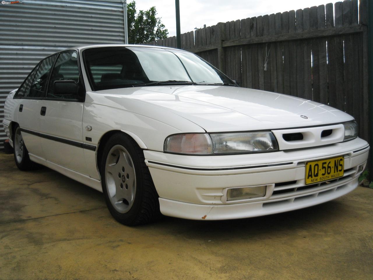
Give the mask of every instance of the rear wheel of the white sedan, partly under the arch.
[[34, 169], [34, 165], [28, 155], [28, 150], [23, 142], [21, 128], [17, 125], [13, 137], [14, 160], [17, 167], [22, 171]]

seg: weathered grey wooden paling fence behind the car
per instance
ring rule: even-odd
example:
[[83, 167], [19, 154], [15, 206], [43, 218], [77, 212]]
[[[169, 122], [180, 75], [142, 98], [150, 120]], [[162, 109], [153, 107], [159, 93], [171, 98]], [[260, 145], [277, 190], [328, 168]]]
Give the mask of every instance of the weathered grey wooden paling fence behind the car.
[[[369, 140], [367, 1], [337, 2], [334, 12], [329, 3], [220, 22], [182, 34], [181, 48], [243, 87], [345, 111], [358, 122], [360, 137]], [[176, 47], [176, 37], [146, 44]]]

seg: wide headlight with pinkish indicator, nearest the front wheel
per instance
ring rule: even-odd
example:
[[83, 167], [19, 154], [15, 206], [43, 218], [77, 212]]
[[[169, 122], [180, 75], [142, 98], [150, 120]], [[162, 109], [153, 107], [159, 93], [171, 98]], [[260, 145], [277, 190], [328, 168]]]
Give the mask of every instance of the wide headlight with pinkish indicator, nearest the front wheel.
[[164, 141], [164, 152], [189, 155], [273, 152], [278, 144], [272, 132], [174, 134]]

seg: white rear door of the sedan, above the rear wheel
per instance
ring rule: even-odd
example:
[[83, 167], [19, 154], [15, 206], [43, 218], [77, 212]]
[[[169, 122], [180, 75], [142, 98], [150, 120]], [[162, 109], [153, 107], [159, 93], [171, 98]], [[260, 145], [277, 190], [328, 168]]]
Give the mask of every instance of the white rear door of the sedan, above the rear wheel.
[[[40, 141], [40, 107], [46, 94], [50, 69], [57, 55], [46, 57], [34, 68], [16, 94], [18, 124], [28, 152], [45, 158]], [[17, 110], [17, 108], [16, 108]]]

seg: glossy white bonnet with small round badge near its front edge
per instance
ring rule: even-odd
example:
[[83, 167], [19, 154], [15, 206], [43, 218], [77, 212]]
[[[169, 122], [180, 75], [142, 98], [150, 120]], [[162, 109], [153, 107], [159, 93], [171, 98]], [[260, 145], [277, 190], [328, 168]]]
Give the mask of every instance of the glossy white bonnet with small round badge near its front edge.
[[[310, 100], [223, 85], [120, 88], [97, 93], [99, 94], [89, 93], [92, 103], [106, 103], [108, 106], [136, 113], [141, 111], [138, 106], [154, 106], [162, 109], [162, 115], [166, 118], [181, 116], [207, 132], [273, 130], [333, 124], [353, 119], [347, 113]], [[136, 107], [132, 108], [134, 101], [137, 101]], [[306, 115], [308, 119], [301, 118], [300, 115]]]

